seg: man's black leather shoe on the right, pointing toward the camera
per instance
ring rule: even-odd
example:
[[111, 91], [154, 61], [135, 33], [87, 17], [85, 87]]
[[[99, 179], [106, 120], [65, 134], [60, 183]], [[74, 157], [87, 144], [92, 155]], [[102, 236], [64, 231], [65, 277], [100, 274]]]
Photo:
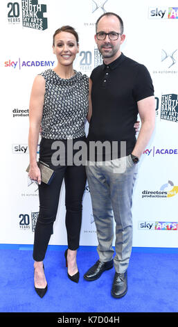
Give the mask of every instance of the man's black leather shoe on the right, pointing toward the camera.
[[112, 284], [112, 296], [122, 298], [127, 293], [127, 271], [125, 273], [115, 273]]

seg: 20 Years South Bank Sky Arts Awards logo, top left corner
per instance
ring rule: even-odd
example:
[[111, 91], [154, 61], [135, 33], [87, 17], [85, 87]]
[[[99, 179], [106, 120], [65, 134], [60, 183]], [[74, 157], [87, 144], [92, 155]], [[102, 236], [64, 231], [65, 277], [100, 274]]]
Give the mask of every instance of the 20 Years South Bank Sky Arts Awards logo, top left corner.
[[38, 0], [21, 0], [14, 3], [8, 2], [8, 23], [19, 24], [30, 29], [44, 31], [48, 28], [46, 5], [39, 3]]

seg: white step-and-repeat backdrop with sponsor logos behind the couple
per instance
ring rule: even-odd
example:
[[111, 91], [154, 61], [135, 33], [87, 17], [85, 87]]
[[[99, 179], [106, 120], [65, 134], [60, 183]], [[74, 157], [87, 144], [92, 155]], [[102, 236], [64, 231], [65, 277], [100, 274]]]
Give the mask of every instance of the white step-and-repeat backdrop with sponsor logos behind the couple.
[[[121, 51], [148, 67], [155, 90], [156, 127], [134, 187], [133, 246], [178, 246], [178, 2], [164, 0], [1, 1], [1, 244], [33, 244], [39, 198], [26, 173], [28, 109], [35, 76], [56, 65], [53, 33], [66, 24], [78, 31], [74, 67], [90, 76], [103, 62], [94, 34], [96, 20], [105, 12], [123, 18]], [[63, 185], [53, 245], [66, 245], [64, 197]], [[80, 245], [97, 244], [86, 185]]]

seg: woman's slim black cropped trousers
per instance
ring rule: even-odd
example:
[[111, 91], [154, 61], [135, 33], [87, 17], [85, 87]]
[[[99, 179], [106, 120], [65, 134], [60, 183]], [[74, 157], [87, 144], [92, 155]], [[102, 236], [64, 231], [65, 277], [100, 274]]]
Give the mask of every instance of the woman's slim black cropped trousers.
[[[84, 138], [75, 139], [75, 141]], [[64, 141], [65, 142], [65, 141]], [[53, 140], [42, 138], [40, 143], [39, 160], [55, 169], [51, 184], [39, 185], [39, 216], [35, 226], [33, 259], [44, 260], [48, 242], [53, 234], [53, 223], [56, 218], [62, 181], [65, 184], [66, 233], [68, 248], [76, 250], [79, 247], [80, 228], [82, 222], [82, 197], [86, 185], [85, 166], [57, 166], [51, 163], [51, 144]], [[74, 154], [74, 153], [73, 153]]]

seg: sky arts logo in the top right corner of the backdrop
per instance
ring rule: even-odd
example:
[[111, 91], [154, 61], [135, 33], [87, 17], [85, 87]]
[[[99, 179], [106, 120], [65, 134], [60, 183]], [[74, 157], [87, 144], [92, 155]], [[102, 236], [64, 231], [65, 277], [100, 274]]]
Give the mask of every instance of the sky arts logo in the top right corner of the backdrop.
[[150, 7], [148, 9], [149, 19], [177, 19], [177, 7]]

